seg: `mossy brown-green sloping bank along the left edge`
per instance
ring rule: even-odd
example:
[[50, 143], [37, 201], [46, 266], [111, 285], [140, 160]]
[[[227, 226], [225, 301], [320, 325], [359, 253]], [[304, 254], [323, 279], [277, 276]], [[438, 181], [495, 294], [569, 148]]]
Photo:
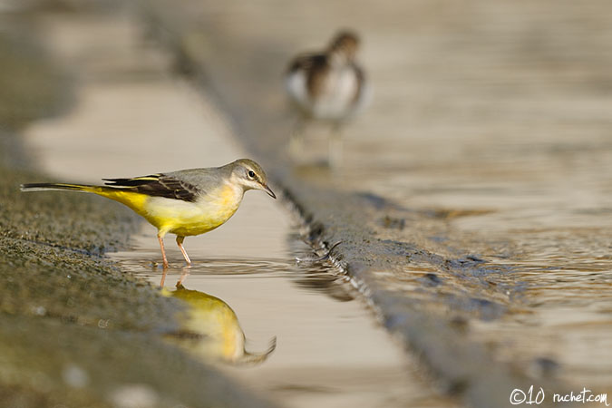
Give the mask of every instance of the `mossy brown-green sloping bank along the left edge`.
[[49, 180], [21, 133], [65, 111], [73, 88], [39, 51], [41, 15], [10, 13], [0, 15], [11, 23], [0, 34], [10, 68], [0, 72], [0, 405], [272, 406], [163, 341], [185, 306], [102, 257], [137, 229], [129, 210], [84, 195], [19, 192], [20, 183]]

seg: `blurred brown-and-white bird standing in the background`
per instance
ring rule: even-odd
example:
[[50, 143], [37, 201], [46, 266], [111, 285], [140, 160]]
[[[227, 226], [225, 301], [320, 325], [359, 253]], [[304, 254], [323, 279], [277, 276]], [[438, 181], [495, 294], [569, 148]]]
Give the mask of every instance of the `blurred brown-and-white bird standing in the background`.
[[359, 37], [342, 30], [335, 34], [325, 51], [303, 53], [289, 63], [285, 87], [299, 118], [291, 132], [289, 152], [296, 159], [303, 150], [308, 121], [331, 125], [328, 162], [338, 166], [342, 159], [342, 125], [364, 107], [369, 87], [364, 70], [355, 61]]

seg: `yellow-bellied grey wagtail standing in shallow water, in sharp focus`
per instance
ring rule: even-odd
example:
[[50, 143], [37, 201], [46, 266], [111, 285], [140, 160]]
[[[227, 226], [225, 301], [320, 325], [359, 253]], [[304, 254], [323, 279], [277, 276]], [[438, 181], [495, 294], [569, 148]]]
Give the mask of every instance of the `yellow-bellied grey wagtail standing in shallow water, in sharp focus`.
[[125, 204], [158, 229], [163, 267], [168, 267], [163, 237], [176, 234], [180, 252], [191, 263], [183, 240], [204, 234], [226, 222], [238, 209], [248, 189], [266, 191], [266, 173], [253, 160], [241, 159], [225, 166], [151, 174], [133, 179], [102, 179], [103, 186], [66, 183], [22, 184], [22, 191], [72, 189], [98, 194]]

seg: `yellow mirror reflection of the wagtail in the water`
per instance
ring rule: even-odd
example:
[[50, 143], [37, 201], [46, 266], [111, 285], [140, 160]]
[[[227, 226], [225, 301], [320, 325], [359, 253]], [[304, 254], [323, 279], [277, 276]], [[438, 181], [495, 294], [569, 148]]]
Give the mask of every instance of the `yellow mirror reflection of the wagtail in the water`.
[[189, 305], [180, 331], [168, 335], [189, 352], [207, 360], [227, 364], [261, 364], [277, 347], [277, 337], [270, 340], [263, 353], [250, 353], [245, 349], [246, 337], [238, 323], [238, 316], [219, 297], [183, 287], [186, 273], [180, 277], [176, 290], [166, 292]]

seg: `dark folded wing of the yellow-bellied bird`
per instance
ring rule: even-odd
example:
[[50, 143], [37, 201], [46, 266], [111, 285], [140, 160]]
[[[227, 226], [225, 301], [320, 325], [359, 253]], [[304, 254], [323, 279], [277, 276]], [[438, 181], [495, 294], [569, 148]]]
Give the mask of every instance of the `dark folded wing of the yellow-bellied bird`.
[[129, 189], [134, 192], [166, 199], [181, 199], [195, 202], [199, 189], [188, 182], [165, 174], [151, 174], [134, 179], [102, 179], [104, 184], [115, 189]]

